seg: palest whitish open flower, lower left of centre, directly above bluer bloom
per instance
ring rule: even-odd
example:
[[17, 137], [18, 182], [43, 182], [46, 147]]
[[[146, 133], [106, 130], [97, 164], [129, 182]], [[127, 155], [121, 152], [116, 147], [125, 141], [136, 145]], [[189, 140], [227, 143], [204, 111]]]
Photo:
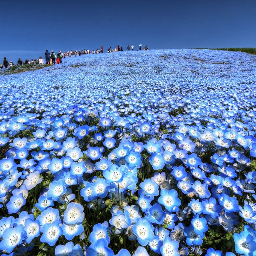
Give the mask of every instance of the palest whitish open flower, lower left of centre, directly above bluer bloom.
[[64, 211], [63, 221], [66, 224], [82, 223], [84, 220], [84, 207], [81, 204], [69, 203]]

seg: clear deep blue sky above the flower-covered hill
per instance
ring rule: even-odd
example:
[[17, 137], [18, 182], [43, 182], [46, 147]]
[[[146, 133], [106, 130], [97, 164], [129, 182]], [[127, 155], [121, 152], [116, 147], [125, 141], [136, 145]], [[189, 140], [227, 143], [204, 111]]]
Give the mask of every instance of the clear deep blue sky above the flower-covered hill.
[[0, 62], [117, 44], [254, 48], [255, 16], [255, 0], [1, 0]]

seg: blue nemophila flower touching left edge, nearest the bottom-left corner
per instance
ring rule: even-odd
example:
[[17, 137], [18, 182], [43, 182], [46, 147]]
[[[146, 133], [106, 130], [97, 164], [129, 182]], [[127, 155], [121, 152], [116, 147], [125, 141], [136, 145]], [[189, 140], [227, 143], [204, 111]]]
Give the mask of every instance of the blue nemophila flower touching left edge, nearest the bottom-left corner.
[[0, 242], [0, 250], [6, 250], [11, 253], [12, 250], [24, 239], [23, 225], [8, 227], [3, 231], [3, 240]]

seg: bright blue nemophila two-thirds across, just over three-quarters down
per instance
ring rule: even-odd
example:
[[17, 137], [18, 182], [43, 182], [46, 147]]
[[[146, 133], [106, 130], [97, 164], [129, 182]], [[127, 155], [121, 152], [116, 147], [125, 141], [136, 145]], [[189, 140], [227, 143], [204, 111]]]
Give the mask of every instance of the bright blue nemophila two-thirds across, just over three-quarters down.
[[161, 189], [161, 196], [157, 201], [159, 204], [162, 204], [169, 212], [172, 212], [181, 204], [181, 201], [178, 198], [178, 193], [175, 189]]

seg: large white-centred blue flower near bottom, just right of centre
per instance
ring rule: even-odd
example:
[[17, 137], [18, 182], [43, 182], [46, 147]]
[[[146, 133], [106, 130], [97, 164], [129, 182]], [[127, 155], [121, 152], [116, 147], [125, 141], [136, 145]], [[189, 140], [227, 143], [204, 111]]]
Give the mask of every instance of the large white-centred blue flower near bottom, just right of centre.
[[137, 219], [136, 224], [132, 226], [132, 231], [137, 236], [138, 242], [143, 246], [154, 240], [153, 227], [145, 218]]

